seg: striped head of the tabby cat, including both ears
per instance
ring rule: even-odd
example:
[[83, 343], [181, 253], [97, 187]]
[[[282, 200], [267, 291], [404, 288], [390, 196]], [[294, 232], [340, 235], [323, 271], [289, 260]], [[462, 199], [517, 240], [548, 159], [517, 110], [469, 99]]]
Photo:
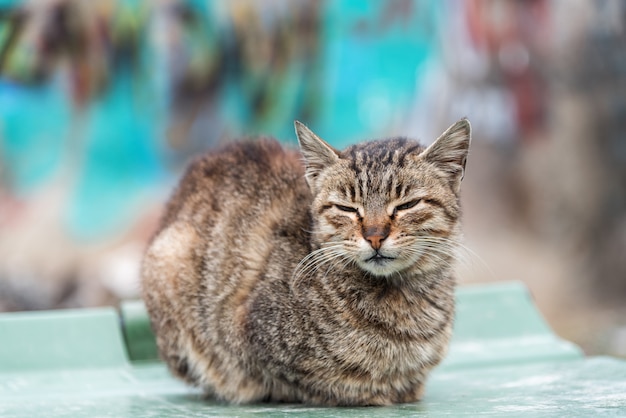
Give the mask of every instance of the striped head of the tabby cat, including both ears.
[[337, 151], [300, 122], [296, 134], [320, 262], [385, 277], [449, 266], [460, 234], [467, 119], [428, 148], [395, 138]]

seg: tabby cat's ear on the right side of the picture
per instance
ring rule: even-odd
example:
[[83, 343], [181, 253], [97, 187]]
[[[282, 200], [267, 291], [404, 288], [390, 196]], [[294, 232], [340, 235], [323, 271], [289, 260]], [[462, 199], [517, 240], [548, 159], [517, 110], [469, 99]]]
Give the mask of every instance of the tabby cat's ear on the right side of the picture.
[[420, 155], [426, 161], [437, 164], [450, 175], [452, 189], [458, 193], [465, 175], [465, 163], [472, 138], [469, 120], [461, 119], [450, 126]]

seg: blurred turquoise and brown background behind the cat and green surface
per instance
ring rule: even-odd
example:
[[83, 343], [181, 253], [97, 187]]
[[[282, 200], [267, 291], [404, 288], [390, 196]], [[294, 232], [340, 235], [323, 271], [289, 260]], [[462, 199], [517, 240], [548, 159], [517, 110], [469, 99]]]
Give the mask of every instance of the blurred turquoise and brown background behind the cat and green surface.
[[138, 296], [188, 160], [470, 118], [461, 284], [626, 356], [626, 3], [0, 0], [0, 311]]

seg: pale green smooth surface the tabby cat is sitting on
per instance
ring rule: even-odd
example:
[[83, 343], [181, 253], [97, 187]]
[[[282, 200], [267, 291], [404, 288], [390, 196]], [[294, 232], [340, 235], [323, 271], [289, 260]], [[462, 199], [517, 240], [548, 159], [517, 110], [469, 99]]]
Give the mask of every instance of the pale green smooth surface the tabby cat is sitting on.
[[[587, 358], [517, 283], [461, 288], [445, 362], [415, 404], [229, 406], [155, 361], [143, 305], [0, 315], [0, 417], [626, 416], [626, 362]], [[127, 354], [128, 353], [128, 354]]]

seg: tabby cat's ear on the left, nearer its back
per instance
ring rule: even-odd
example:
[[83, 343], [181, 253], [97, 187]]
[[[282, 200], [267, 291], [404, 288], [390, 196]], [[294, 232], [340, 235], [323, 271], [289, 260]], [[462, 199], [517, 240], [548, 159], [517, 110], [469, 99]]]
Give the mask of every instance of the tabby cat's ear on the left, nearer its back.
[[339, 160], [339, 152], [328, 145], [302, 122], [295, 121], [296, 136], [306, 166], [306, 181], [311, 189], [315, 189], [315, 180], [322, 170]]

